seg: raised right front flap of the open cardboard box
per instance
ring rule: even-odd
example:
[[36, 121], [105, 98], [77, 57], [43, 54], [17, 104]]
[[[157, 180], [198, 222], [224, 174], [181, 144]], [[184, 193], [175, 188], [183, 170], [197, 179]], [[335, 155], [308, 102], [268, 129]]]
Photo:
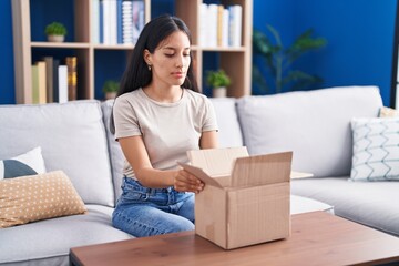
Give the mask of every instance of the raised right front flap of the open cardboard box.
[[291, 161], [293, 152], [237, 158], [231, 185], [241, 187], [289, 182]]

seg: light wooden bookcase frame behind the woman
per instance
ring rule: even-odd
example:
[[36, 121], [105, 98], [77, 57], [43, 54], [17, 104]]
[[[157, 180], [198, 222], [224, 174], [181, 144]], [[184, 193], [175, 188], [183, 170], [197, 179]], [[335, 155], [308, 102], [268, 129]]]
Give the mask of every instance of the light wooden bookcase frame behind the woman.
[[[103, 80], [109, 79], [112, 71], [121, 73], [114, 76], [121, 76], [123, 71], [114, 68], [115, 63], [120, 63], [123, 57], [123, 63], [127, 64], [129, 57], [134, 50], [133, 44], [101, 44], [92, 40], [91, 18], [94, 12], [93, 0], [60, 0], [63, 7], [68, 7], [72, 14], [63, 16], [73, 27], [71, 34], [72, 41], [63, 43], [32, 41], [42, 38], [38, 27], [45, 24], [47, 20], [53, 19], [54, 14], [50, 14], [51, 10], [59, 10], [58, 3], [44, 0], [11, 0], [12, 1], [12, 19], [13, 19], [13, 43], [14, 43], [14, 68], [16, 68], [16, 96], [17, 103], [31, 103], [31, 65], [33, 59], [38, 59], [48, 54], [73, 54], [78, 57], [78, 95], [79, 99], [99, 99], [102, 100], [102, 93], [98, 92], [102, 86]], [[151, 0], [143, 0], [144, 20], [151, 20]], [[206, 1], [205, 1], [206, 2]], [[223, 0], [223, 4], [242, 6], [242, 45], [237, 48], [231, 47], [201, 47], [198, 45], [198, 33], [201, 25], [200, 10], [202, 0], [174, 0], [175, 16], [182, 18], [187, 24], [192, 33], [192, 52], [194, 57], [194, 71], [198, 82], [198, 88], [203, 88], [204, 65], [207, 65], [207, 53], [216, 53], [218, 55], [218, 65], [216, 68], [224, 69], [232, 78], [233, 83], [229, 88], [228, 96], [239, 98], [250, 94], [250, 75], [252, 75], [252, 20], [253, 20], [253, 0]], [[34, 6], [33, 6], [34, 4]], [[54, 4], [54, 7], [51, 7]], [[31, 6], [33, 7], [31, 9]], [[31, 16], [34, 10], [35, 20], [41, 23], [35, 24], [31, 29]], [[57, 16], [55, 16], [57, 17]], [[35, 21], [34, 20], [34, 21]], [[32, 30], [35, 34], [32, 34]], [[204, 57], [205, 55], [205, 57]], [[63, 55], [64, 57], [64, 55]], [[104, 60], [111, 61], [112, 66], [104, 66]], [[109, 69], [108, 69], [109, 68]], [[121, 69], [125, 65], [121, 65]], [[99, 71], [100, 70], [100, 71]]]

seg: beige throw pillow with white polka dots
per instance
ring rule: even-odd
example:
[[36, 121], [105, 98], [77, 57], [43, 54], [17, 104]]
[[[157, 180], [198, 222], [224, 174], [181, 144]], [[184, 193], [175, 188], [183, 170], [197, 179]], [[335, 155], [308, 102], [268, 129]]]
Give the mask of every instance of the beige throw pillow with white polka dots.
[[62, 171], [0, 181], [0, 228], [85, 212]]

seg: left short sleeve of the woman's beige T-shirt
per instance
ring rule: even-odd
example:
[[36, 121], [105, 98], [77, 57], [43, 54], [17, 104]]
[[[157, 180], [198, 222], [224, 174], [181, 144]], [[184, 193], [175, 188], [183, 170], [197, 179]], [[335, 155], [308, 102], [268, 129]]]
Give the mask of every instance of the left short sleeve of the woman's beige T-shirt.
[[115, 99], [113, 117], [115, 123], [115, 140], [142, 134], [133, 104], [131, 104], [125, 94]]

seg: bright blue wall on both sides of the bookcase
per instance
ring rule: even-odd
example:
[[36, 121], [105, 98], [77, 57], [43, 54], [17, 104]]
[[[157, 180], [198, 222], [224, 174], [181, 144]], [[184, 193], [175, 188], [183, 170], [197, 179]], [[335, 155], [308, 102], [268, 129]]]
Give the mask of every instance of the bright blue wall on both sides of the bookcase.
[[[157, 0], [160, 1], [160, 0]], [[327, 39], [295, 66], [324, 78], [323, 88], [378, 85], [389, 105], [397, 0], [254, 0], [254, 27], [274, 25], [290, 43], [308, 28]], [[14, 103], [11, 0], [0, 1], [0, 104]]]

